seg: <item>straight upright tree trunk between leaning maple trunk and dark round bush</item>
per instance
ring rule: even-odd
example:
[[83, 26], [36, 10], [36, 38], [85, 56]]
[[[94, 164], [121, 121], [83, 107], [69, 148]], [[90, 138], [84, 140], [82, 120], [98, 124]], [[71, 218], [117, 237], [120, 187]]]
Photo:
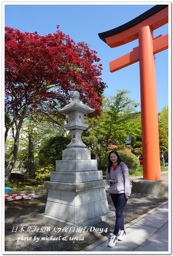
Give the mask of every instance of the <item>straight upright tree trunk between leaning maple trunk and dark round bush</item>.
[[29, 125], [29, 143], [28, 143], [28, 170], [32, 175], [34, 170], [34, 153], [33, 153], [33, 126]]

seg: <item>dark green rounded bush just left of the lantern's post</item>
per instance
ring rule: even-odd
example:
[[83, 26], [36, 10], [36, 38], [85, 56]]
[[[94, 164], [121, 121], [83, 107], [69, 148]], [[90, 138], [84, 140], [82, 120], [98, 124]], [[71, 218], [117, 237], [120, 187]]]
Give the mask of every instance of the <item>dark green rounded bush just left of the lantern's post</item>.
[[[70, 140], [65, 137], [56, 136], [53, 138], [49, 138], [46, 143], [40, 149], [38, 156], [40, 158], [44, 156], [45, 160], [48, 163], [53, 164], [55, 166], [56, 160], [62, 160], [62, 151], [66, 149], [66, 146], [70, 143]], [[43, 164], [44, 163], [44, 159]]]

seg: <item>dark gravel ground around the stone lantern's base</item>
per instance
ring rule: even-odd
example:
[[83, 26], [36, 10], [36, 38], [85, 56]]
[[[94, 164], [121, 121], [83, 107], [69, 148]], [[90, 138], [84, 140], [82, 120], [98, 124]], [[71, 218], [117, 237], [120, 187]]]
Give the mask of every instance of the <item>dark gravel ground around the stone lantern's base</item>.
[[[167, 178], [167, 175], [162, 175], [162, 178]], [[106, 194], [110, 211], [115, 211], [111, 197], [109, 197], [108, 187]], [[9, 252], [50, 252], [50, 251], [80, 251], [86, 246], [96, 242], [98, 239], [113, 232], [115, 226], [115, 216], [96, 225], [95, 228], [108, 229], [108, 232], [58, 232], [53, 230], [55, 225], [39, 219], [39, 213], [44, 213], [48, 194], [41, 194], [41, 197], [33, 200], [18, 200], [5, 203], [5, 251]], [[141, 216], [150, 209], [168, 200], [168, 197], [158, 198], [154, 196], [146, 196], [141, 194], [132, 194], [124, 208], [124, 223], [128, 223], [133, 219]], [[13, 229], [14, 227], [14, 229]], [[16, 227], [18, 229], [16, 230]], [[23, 230], [22, 230], [23, 227]], [[30, 228], [29, 228], [30, 227]], [[49, 227], [45, 230], [45, 227]], [[42, 228], [42, 229], [41, 229]], [[13, 232], [12, 232], [13, 230]], [[14, 232], [16, 230], [16, 232]], [[76, 231], [76, 230], [75, 230]], [[24, 239], [31, 240], [22, 240]], [[34, 237], [39, 238], [34, 241]], [[41, 237], [51, 237], [52, 239], [58, 237], [60, 240], [41, 241]], [[61, 236], [61, 237], [60, 237]], [[67, 236], [67, 241], [63, 241], [62, 237]], [[31, 238], [30, 238], [31, 237]], [[83, 240], [69, 240], [70, 237], [79, 237]], [[21, 240], [19, 240], [19, 238]], [[18, 241], [19, 240], [19, 241]]]

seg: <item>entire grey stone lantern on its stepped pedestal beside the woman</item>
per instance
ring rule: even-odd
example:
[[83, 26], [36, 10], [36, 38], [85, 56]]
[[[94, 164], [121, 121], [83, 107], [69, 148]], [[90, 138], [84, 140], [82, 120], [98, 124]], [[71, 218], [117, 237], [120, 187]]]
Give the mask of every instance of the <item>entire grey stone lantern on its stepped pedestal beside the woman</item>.
[[102, 171], [97, 170], [97, 160], [91, 159], [81, 140], [88, 128], [84, 115], [94, 110], [79, 100], [79, 92], [73, 92], [73, 101], [58, 110], [68, 114], [64, 127], [72, 139], [62, 151], [62, 160], [56, 161], [50, 181], [44, 183], [49, 192], [45, 212], [39, 218], [60, 227], [90, 226], [115, 215], [109, 211]]

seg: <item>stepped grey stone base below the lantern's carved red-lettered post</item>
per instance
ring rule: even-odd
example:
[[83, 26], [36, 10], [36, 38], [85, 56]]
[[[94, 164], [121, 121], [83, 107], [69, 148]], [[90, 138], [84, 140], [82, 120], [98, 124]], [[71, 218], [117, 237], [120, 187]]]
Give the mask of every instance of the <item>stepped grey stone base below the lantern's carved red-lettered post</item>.
[[109, 211], [105, 186], [97, 160], [56, 161], [56, 171], [45, 182], [49, 192], [39, 218], [59, 227], [86, 227], [112, 217], [115, 212]]

